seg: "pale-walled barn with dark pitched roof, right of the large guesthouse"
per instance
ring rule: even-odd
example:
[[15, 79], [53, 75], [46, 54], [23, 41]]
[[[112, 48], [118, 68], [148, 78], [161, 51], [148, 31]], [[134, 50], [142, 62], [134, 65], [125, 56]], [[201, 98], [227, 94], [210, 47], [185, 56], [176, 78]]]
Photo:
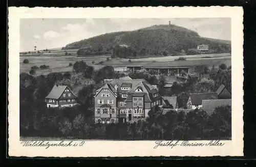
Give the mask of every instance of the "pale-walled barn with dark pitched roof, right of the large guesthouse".
[[191, 93], [190, 94], [192, 105], [201, 105], [202, 100], [218, 99], [217, 93]]

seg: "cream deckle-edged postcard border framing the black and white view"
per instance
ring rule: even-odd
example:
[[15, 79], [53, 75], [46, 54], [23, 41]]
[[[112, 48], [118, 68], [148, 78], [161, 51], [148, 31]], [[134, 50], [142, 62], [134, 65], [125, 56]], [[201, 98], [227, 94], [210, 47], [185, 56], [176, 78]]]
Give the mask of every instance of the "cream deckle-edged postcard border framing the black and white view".
[[[27, 8], [9, 7], [9, 156], [242, 156], [243, 155], [243, 9], [241, 7]], [[82, 147], [23, 147], [19, 141], [20, 18], [231, 18], [232, 140], [222, 147], [159, 147], [155, 141], [86, 141]], [[209, 141], [194, 141], [208, 143]], [[59, 142], [52, 142], [59, 143]]]

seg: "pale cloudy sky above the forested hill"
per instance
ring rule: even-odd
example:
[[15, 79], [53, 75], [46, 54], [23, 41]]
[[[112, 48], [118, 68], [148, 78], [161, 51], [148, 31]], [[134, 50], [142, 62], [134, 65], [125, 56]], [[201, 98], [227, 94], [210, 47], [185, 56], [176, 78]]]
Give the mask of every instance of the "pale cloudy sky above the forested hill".
[[175, 24], [202, 37], [231, 40], [230, 18], [22, 18], [20, 51], [63, 47], [100, 34]]

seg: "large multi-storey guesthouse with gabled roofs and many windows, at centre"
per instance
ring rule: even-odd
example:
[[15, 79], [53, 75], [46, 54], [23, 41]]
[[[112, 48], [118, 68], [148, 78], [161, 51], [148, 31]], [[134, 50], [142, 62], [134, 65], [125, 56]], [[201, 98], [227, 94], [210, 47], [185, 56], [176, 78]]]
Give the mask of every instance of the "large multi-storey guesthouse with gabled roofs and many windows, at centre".
[[137, 121], [162, 104], [157, 89], [144, 79], [114, 79], [96, 91], [95, 123]]

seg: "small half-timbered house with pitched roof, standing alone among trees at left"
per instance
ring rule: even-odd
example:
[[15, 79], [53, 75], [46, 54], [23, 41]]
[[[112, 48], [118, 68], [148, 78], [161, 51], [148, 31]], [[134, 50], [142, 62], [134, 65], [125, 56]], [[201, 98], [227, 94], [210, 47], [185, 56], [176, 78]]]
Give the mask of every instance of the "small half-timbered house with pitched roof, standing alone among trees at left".
[[47, 107], [72, 107], [77, 97], [68, 86], [55, 85], [45, 99]]

